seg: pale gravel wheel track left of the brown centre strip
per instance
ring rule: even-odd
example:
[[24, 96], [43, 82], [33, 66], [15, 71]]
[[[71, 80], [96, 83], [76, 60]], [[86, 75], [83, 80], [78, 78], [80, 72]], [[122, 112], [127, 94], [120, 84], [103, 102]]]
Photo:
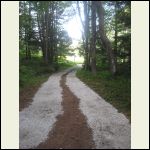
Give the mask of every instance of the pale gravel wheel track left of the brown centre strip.
[[19, 146], [29, 149], [47, 139], [56, 117], [63, 114], [62, 89], [59, 81], [63, 73], [49, 77], [33, 98], [32, 104], [19, 114]]

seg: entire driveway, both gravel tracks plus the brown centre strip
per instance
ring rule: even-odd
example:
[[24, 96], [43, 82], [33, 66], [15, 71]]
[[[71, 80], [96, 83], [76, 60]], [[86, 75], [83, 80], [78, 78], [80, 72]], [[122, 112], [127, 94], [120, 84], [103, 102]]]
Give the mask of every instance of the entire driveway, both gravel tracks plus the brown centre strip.
[[20, 112], [20, 149], [130, 149], [126, 117], [66, 72], [52, 75]]

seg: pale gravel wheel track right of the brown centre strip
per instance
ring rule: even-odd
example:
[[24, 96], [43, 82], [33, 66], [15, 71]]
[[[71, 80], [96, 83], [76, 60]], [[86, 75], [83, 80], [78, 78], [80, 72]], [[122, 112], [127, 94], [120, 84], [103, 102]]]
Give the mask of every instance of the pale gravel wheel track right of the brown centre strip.
[[131, 128], [129, 120], [81, 82], [75, 76], [75, 72], [71, 72], [67, 76], [66, 84], [80, 99], [79, 107], [93, 131], [96, 148], [130, 149]]

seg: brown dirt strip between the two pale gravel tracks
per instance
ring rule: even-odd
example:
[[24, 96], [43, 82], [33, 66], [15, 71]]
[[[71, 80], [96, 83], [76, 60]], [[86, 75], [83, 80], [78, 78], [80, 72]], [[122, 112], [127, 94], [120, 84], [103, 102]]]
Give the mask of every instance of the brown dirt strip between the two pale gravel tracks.
[[[66, 74], [60, 85], [63, 88], [64, 114], [58, 117], [48, 139], [36, 149], [94, 149], [92, 131], [79, 110], [79, 99], [66, 86]], [[79, 91], [80, 92], [80, 91]], [[57, 94], [57, 93], [56, 93]]]

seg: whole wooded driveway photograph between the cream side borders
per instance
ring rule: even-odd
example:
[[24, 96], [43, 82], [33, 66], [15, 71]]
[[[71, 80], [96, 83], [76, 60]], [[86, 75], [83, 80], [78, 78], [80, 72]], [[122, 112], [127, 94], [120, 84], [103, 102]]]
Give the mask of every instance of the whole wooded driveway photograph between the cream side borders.
[[21, 149], [130, 148], [131, 2], [20, 1], [19, 56]]

